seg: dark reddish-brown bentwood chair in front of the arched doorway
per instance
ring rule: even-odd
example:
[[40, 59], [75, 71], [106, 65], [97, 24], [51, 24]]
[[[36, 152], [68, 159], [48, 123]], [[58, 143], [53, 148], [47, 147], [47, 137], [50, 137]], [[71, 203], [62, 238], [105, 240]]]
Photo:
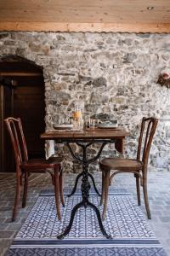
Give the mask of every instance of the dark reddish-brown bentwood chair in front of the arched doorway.
[[22, 179], [24, 177], [24, 193], [22, 199], [22, 207], [26, 207], [28, 177], [30, 173], [43, 173], [48, 172], [52, 177], [52, 183], [54, 184], [55, 203], [57, 209], [58, 218], [61, 218], [59, 208], [59, 196], [60, 201], [65, 206], [63, 196], [63, 180], [62, 180], [62, 168], [61, 157], [52, 157], [48, 160], [45, 159], [28, 159], [26, 139], [22, 129], [20, 118], [14, 119], [8, 117], [4, 120], [8, 128], [9, 137], [14, 149], [14, 158], [16, 165], [16, 192], [14, 200], [14, 211], [12, 221], [15, 220], [18, 207], [20, 203], [20, 190], [22, 187]]

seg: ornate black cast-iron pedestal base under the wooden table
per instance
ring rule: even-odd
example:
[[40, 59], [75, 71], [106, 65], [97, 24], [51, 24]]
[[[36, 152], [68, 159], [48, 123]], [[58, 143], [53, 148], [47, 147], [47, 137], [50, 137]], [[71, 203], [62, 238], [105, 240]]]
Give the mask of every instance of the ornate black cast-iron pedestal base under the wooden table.
[[[95, 140], [95, 139], [93, 139], [93, 141], [89, 142], [89, 143], [87, 143], [86, 141], [82, 141], [82, 140], [79, 140], [79, 141], [76, 140], [74, 142], [65, 142], [65, 145], [67, 145], [67, 147], [69, 148], [72, 157], [77, 159], [79, 162], [82, 163], [82, 172], [77, 176], [77, 180], [76, 180], [74, 189], [71, 192], [71, 195], [73, 195], [75, 193], [75, 191], [77, 189], [78, 179], [80, 177], [82, 177], [82, 201], [80, 203], [78, 203], [72, 209], [70, 223], [66, 227], [65, 231], [63, 232], [63, 234], [57, 236], [58, 239], [63, 239], [70, 232], [71, 226], [73, 224], [73, 220], [74, 220], [74, 217], [75, 217], [75, 214], [76, 214], [77, 210], [80, 207], [85, 207], [85, 208], [86, 207], [91, 207], [91, 208], [93, 208], [94, 212], [96, 212], [96, 215], [97, 215], [97, 218], [98, 218], [98, 221], [99, 221], [99, 228], [100, 228], [102, 234], [106, 238], [111, 238], [111, 236], [106, 233], [105, 228], [104, 228], [104, 226], [102, 224], [102, 220], [101, 220], [101, 217], [100, 217], [99, 209], [96, 206], [94, 206], [94, 204], [92, 204], [90, 201], [88, 201], [89, 189], [90, 189], [90, 183], [88, 182], [88, 177], [91, 177], [91, 179], [92, 179], [92, 181], [94, 183], [94, 177], [90, 173], [88, 173], [88, 165], [91, 164], [92, 162], [94, 162], [95, 160], [97, 160], [99, 158], [99, 155], [101, 154], [102, 149], [105, 147], [105, 144], [107, 144], [107, 143], [114, 143], [114, 142], [115, 142], [114, 140]], [[78, 157], [76, 154], [73, 153], [70, 143], [77, 143], [77, 145], [82, 148], [82, 158]], [[98, 154], [94, 158], [88, 160], [88, 158], [87, 158], [87, 148], [89, 146], [91, 146], [93, 143], [101, 143], [101, 147], [99, 149]], [[95, 183], [94, 183], [94, 189], [95, 189], [96, 193], [99, 195], [99, 191], [96, 189]], [[71, 196], [71, 195], [69, 195], [69, 196]]]

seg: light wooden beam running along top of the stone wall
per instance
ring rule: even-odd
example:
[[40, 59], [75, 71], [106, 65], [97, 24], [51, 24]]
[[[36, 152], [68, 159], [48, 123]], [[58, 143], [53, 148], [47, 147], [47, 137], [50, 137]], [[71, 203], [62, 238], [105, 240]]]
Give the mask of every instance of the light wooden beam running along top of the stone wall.
[[0, 31], [15, 32], [156, 32], [169, 33], [170, 23], [0, 22]]

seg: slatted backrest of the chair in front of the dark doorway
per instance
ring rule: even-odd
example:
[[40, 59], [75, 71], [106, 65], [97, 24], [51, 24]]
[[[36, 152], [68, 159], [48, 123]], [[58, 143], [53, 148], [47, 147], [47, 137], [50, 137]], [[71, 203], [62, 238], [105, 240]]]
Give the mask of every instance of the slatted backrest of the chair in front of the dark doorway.
[[16, 166], [20, 166], [22, 162], [28, 160], [26, 140], [20, 118], [14, 119], [13, 117], [8, 117], [7, 119], [4, 119], [4, 122], [7, 125], [10, 140], [14, 149]]

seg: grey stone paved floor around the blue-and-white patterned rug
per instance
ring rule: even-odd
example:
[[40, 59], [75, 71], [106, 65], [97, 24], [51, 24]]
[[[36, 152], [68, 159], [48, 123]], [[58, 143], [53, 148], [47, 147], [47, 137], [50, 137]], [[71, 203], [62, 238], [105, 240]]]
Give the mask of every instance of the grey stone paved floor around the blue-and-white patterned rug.
[[[74, 183], [77, 174], [65, 175], [65, 187]], [[20, 208], [18, 218], [11, 222], [11, 213], [14, 201], [14, 173], [0, 174], [0, 256], [3, 256], [14, 239], [20, 226], [25, 221], [31, 207], [37, 200], [42, 189], [52, 189], [48, 174], [31, 175], [28, 202], [26, 208]], [[95, 173], [96, 183], [100, 186], [101, 176]], [[120, 174], [115, 178], [116, 188], [126, 188], [130, 191], [135, 200], [135, 180], [133, 175]], [[149, 196], [152, 219], [149, 220], [157, 238], [170, 256], [170, 172], [150, 172], [149, 173]], [[142, 211], [145, 214], [144, 202], [142, 201]]]

